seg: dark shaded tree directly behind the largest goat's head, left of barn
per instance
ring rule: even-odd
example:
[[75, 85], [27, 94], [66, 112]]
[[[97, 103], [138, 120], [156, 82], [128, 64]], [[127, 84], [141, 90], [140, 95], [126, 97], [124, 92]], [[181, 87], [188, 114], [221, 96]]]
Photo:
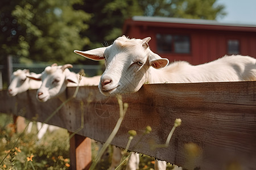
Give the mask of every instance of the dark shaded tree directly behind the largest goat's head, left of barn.
[[143, 14], [137, 0], [84, 0], [84, 5], [75, 8], [92, 15], [89, 29], [82, 33], [92, 42], [85, 49], [109, 45], [122, 35], [125, 19]]

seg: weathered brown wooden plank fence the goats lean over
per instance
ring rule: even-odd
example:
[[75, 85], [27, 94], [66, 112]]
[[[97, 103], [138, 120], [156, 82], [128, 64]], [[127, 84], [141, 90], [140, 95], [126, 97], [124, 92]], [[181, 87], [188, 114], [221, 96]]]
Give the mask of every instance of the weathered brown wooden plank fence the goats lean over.
[[[67, 97], [74, 92], [75, 87], [65, 91]], [[35, 96], [36, 90], [16, 97], [0, 91], [0, 112], [19, 113], [28, 119], [37, 117], [43, 122], [61, 104], [59, 99], [40, 103]], [[137, 136], [131, 142], [131, 151], [186, 169], [228, 169], [232, 165], [256, 168], [256, 82], [145, 84], [137, 93], [123, 95], [122, 99], [129, 108], [112, 145], [125, 148], [127, 131], [133, 129]], [[90, 86], [80, 87], [76, 99], [65, 104], [47, 123], [75, 131], [80, 128], [81, 110], [84, 129], [71, 141], [71, 149], [77, 149], [71, 151], [73, 155], [84, 153], [82, 137], [106, 141], [119, 118], [117, 99], [105, 97], [98, 87]], [[181, 118], [182, 123], [170, 146], [152, 150], [152, 143], [166, 141], [175, 118]], [[143, 136], [147, 125], [152, 131]], [[73, 169], [79, 169], [79, 156], [71, 156]]]

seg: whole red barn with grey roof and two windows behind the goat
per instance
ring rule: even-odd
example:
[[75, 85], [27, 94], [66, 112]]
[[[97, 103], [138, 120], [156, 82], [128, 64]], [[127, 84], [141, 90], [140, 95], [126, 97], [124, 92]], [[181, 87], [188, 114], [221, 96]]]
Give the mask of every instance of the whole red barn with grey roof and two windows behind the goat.
[[123, 25], [123, 35], [143, 39], [153, 52], [170, 61], [193, 65], [225, 54], [256, 58], [256, 25], [227, 24], [215, 20], [134, 16]]

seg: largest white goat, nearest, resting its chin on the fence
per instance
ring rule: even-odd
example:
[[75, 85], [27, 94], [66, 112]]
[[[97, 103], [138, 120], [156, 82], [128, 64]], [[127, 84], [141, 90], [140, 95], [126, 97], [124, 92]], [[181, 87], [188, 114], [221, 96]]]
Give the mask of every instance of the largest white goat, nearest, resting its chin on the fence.
[[[106, 69], [98, 88], [107, 96], [137, 92], [144, 83], [256, 80], [255, 58], [225, 56], [203, 65], [192, 66], [179, 61], [167, 66], [168, 59], [161, 58], [148, 47], [150, 40], [150, 37], [141, 40], [122, 36], [108, 47], [74, 52], [93, 60], [105, 59]], [[165, 169], [162, 165], [160, 162], [158, 167], [156, 163], [155, 169]]]

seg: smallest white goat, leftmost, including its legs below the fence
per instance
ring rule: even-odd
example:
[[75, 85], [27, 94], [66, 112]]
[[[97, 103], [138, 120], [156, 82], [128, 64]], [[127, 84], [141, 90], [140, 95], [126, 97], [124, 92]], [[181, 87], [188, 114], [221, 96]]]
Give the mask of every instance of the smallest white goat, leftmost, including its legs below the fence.
[[[11, 83], [8, 87], [8, 94], [10, 96], [16, 96], [17, 94], [26, 92], [29, 89], [38, 89], [42, 82], [41, 81], [35, 81], [30, 78], [27, 78], [27, 75], [36, 75], [35, 73], [30, 73], [28, 69], [24, 70], [16, 70], [11, 75]], [[27, 132], [30, 133], [32, 130], [33, 123], [30, 122], [28, 124]], [[49, 131], [52, 131], [53, 126], [49, 126], [47, 124], [43, 124], [41, 122], [36, 122], [36, 128], [38, 131], [38, 139], [42, 139], [43, 135], [46, 133], [47, 129]]]

